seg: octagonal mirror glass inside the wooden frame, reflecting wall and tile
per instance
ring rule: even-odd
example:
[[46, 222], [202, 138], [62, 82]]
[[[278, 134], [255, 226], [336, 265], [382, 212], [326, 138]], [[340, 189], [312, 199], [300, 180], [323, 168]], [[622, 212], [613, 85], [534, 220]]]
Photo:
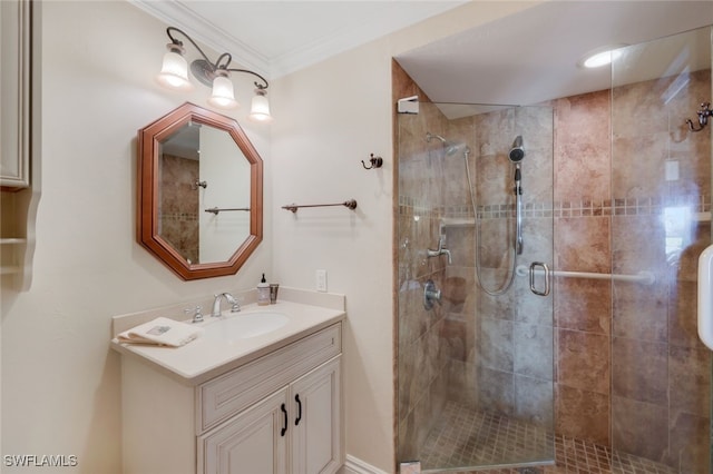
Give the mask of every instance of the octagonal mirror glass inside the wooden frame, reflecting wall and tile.
[[160, 150], [158, 234], [188, 264], [227, 260], [250, 235], [250, 161], [227, 132], [195, 122]]

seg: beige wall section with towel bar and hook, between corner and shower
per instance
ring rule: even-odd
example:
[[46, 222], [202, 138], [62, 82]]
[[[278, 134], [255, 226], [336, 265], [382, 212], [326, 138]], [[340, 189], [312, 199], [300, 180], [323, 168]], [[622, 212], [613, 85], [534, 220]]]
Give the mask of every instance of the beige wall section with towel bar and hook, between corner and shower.
[[[329, 290], [346, 295], [346, 452], [393, 471], [393, 167], [391, 58], [524, 8], [472, 2], [273, 82], [275, 276], [312, 288], [328, 270]], [[384, 158], [367, 171], [370, 154]], [[290, 203], [343, 208], [277, 210]]]

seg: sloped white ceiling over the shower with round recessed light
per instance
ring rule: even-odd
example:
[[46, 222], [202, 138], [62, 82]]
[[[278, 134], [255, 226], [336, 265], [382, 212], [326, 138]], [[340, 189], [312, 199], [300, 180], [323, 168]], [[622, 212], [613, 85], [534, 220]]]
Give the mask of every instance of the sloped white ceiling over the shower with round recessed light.
[[[578, 66], [592, 50], [639, 45], [711, 24], [711, 0], [551, 1], [408, 51], [397, 60], [437, 102], [531, 105], [609, 88], [611, 67]], [[666, 67], [681, 51], [695, 63], [693, 70], [710, 68], [711, 33], [706, 30], [701, 37], [703, 45], [699, 41], [695, 48], [656, 48], [655, 53], [635, 48], [626, 60], [635, 59], [636, 69], [645, 69], [649, 77], [626, 80], [680, 72]], [[661, 66], [644, 66], [644, 59]]]

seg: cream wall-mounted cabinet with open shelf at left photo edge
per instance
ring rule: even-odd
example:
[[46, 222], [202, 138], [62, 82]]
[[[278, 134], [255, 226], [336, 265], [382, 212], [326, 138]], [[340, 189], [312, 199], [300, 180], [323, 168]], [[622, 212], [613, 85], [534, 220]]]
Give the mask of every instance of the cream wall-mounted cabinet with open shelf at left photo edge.
[[0, 1], [0, 276], [30, 286], [40, 197], [40, 2]]

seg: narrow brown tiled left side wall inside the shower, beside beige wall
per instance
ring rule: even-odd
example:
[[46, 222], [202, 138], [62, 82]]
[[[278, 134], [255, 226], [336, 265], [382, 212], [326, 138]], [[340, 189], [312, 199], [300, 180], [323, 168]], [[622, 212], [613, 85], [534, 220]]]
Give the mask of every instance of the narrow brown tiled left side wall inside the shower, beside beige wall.
[[[394, 98], [419, 93], [413, 82], [394, 63]], [[395, 99], [394, 99], [395, 101]], [[430, 103], [421, 103], [419, 115], [401, 116], [395, 138], [399, 144], [398, 187], [398, 300], [397, 318], [397, 433], [399, 460], [420, 458], [430, 427], [442, 411], [448, 391], [449, 305], [423, 306], [423, 285], [432, 279], [443, 288], [446, 257], [427, 258], [436, 248], [441, 219], [442, 159], [437, 144], [427, 144], [426, 132], [441, 132], [446, 120]], [[442, 149], [442, 147], [440, 147]], [[433, 151], [431, 151], [431, 149]], [[395, 178], [394, 178], [395, 179]], [[446, 298], [443, 298], [446, 300]], [[472, 318], [471, 318], [472, 319]], [[470, 332], [461, 330], [462, 337]]]

